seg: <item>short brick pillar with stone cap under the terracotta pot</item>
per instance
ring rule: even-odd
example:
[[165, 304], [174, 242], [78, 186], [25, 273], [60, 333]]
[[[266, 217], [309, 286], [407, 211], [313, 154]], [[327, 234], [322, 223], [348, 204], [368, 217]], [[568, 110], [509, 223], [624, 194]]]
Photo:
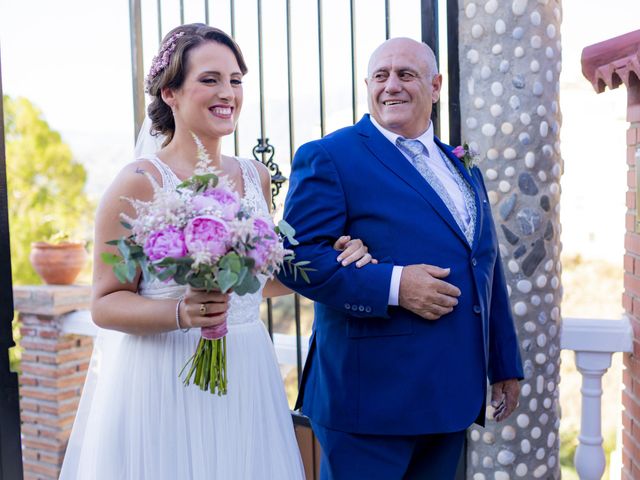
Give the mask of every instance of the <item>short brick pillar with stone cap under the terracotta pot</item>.
[[89, 286], [15, 287], [24, 349], [20, 415], [24, 478], [55, 480], [93, 350], [93, 339], [62, 331], [64, 314], [89, 308]]

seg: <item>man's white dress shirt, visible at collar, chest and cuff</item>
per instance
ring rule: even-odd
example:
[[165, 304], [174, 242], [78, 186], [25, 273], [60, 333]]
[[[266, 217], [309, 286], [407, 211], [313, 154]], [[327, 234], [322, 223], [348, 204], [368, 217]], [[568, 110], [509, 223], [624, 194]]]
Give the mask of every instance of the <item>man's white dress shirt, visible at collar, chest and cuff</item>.
[[[385, 136], [387, 140], [389, 140], [394, 147], [398, 148], [396, 145], [396, 140], [401, 135], [397, 133], [393, 133], [387, 129], [385, 129], [382, 125], [380, 125], [376, 120], [371, 116], [371, 123]], [[436, 145], [433, 140], [433, 122], [429, 122], [429, 128], [422, 135], [415, 138], [415, 140], [419, 140], [429, 152], [429, 167], [435, 174], [435, 176], [440, 180], [443, 187], [451, 197], [453, 204], [460, 214], [460, 218], [466, 225], [469, 225], [471, 221], [471, 215], [469, 210], [467, 209], [467, 204], [464, 201], [464, 195], [458, 187], [456, 180], [453, 176], [451, 170], [445, 163], [448, 160], [445, 160], [444, 154], [440, 151], [440, 148]], [[404, 153], [401, 149], [398, 148], [400, 153], [407, 159], [408, 162], [411, 163], [410, 157]], [[411, 163], [413, 165], [413, 163]], [[402, 276], [402, 268], [401, 266], [395, 265], [393, 267], [393, 272], [391, 273], [391, 286], [389, 287], [389, 305], [395, 306], [399, 304], [398, 296], [400, 293], [400, 277]]]

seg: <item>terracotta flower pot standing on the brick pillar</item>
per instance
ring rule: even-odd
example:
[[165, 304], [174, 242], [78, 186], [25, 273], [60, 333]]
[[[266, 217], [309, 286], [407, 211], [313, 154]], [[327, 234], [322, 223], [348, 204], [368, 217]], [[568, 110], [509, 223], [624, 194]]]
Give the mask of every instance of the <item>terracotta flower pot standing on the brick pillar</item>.
[[87, 262], [87, 252], [82, 243], [34, 242], [29, 260], [46, 284], [71, 285]]

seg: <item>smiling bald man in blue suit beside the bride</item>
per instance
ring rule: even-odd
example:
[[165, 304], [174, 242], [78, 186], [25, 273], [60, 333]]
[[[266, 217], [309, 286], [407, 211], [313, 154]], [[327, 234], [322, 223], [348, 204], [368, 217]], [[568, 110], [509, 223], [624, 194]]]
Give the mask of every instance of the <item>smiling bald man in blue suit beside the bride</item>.
[[[522, 367], [482, 176], [433, 135], [442, 76], [422, 43], [369, 61], [370, 115], [297, 151], [285, 207], [315, 322], [297, 407], [323, 450], [323, 479], [455, 475], [464, 432], [517, 404]], [[380, 263], [340, 268], [349, 234]]]

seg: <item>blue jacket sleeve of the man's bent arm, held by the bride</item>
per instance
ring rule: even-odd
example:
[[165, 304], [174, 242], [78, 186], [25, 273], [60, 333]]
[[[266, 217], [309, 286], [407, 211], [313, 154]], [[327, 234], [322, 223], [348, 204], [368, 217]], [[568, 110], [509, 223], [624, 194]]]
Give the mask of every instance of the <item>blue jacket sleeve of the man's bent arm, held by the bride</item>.
[[[314, 301], [358, 317], [387, 317], [391, 264], [342, 267], [333, 249], [347, 232], [347, 201], [333, 159], [318, 142], [303, 145], [295, 155], [285, 220], [296, 230], [299, 244], [287, 244], [295, 261], [307, 260], [311, 282], [281, 272], [288, 287]], [[366, 239], [363, 239], [366, 242]]]

